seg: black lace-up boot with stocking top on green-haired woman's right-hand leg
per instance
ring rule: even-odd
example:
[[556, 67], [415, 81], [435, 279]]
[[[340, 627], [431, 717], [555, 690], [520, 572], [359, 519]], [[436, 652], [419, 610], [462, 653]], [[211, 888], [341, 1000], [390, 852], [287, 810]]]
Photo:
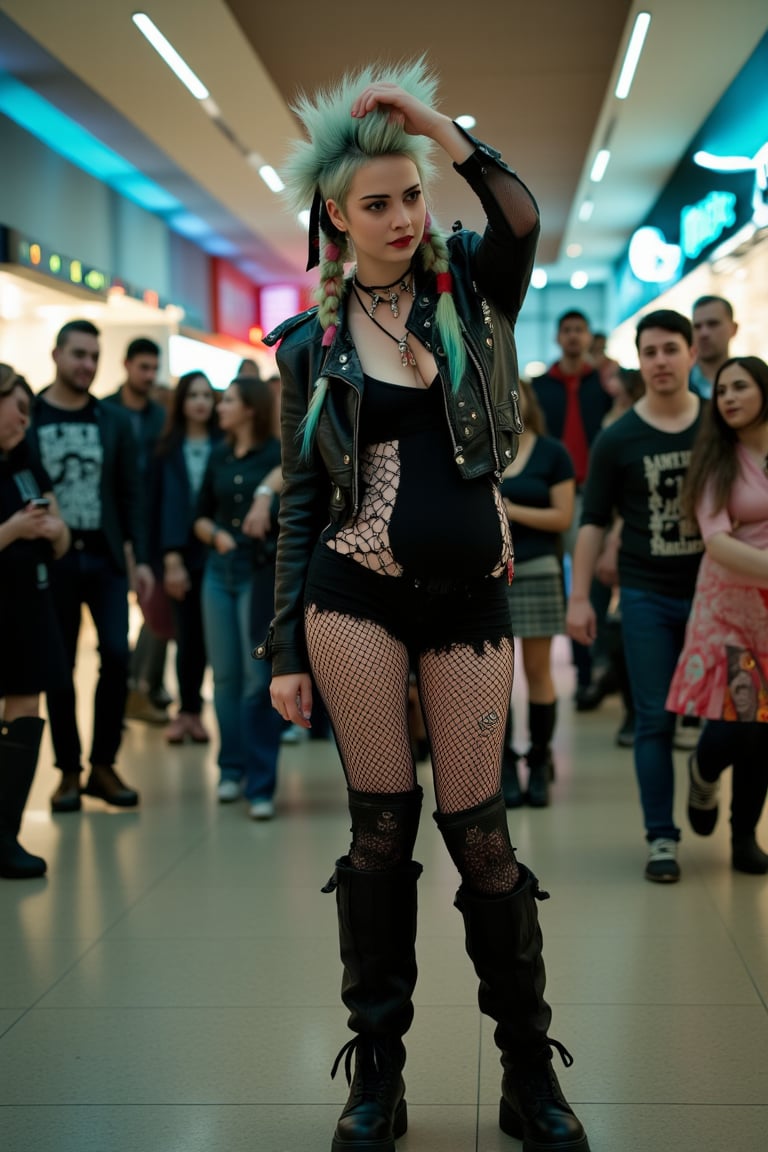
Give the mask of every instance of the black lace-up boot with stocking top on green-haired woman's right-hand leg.
[[[499, 811], [500, 810], [500, 811]], [[492, 835], [493, 805], [477, 810], [478, 833]], [[459, 865], [466, 852], [470, 812], [440, 816], [438, 824], [453, 859]], [[505, 812], [501, 797], [496, 803], [497, 835]], [[472, 835], [471, 843], [477, 843]], [[563, 1063], [572, 1063], [570, 1053], [548, 1037], [552, 1009], [543, 998], [546, 973], [537, 900], [537, 878], [518, 864], [518, 880], [505, 894], [479, 894], [467, 882], [461, 867], [462, 886], [456, 907], [464, 918], [466, 952], [480, 979], [480, 1011], [496, 1021], [494, 1039], [501, 1049], [504, 1069], [499, 1124], [508, 1136], [523, 1140], [523, 1152], [590, 1152], [580, 1121], [565, 1100], [552, 1066], [553, 1049]], [[473, 878], [474, 879], [474, 878]]]

